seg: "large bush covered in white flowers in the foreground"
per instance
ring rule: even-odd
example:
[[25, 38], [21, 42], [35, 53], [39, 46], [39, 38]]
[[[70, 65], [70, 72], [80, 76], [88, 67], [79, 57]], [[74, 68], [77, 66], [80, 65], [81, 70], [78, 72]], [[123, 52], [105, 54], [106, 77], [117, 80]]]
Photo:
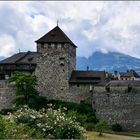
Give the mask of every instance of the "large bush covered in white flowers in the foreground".
[[78, 139], [84, 131], [75, 119], [67, 117], [61, 109], [55, 110], [52, 107], [36, 111], [25, 106], [10, 114], [8, 119], [35, 128], [45, 134], [45, 138]]

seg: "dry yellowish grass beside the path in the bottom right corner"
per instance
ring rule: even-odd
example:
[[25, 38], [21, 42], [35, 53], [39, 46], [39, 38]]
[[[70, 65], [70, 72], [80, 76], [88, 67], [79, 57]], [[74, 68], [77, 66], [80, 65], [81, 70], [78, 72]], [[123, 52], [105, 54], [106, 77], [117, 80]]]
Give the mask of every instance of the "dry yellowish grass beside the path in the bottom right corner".
[[140, 138], [137, 137], [122, 136], [122, 135], [107, 134], [107, 133], [104, 133], [103, 136], [98, 136], [98, 133], [94, 131], [88, 131], [84, 134], [84, 136], [87, 139], [92, 139], [92, 140], [140, 140]]

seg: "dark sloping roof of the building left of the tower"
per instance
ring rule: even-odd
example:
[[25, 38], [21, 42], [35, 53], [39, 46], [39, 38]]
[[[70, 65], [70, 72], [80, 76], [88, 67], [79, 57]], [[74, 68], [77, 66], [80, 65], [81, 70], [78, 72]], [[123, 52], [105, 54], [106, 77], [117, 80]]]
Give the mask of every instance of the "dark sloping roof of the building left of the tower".
[[0, 61], [0, 64], [36, 64], [36, 54], [36, 52], [30, 51], [20, 52]]

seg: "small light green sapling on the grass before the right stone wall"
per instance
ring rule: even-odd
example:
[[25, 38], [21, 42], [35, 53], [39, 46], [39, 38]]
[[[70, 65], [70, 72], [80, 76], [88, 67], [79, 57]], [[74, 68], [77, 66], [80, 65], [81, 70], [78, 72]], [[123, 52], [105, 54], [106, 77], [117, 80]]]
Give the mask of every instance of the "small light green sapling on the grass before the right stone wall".
[[102, 133], [106, 128], [107, 128], [107, 124], [105, 121], [99, 121], [95, 125], [95, 130], [99, 132], [99, 136], [102, 136]]

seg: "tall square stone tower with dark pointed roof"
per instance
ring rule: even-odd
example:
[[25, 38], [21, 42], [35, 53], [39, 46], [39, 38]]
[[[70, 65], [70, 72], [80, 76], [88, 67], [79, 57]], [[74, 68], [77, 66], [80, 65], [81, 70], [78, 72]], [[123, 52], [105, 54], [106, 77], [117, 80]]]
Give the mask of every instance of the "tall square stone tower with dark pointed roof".
[[35, 42], [38, 91], [48, 99], [70, 100], [69, 78], [76, 68], [76, 45], [58, 26]]

